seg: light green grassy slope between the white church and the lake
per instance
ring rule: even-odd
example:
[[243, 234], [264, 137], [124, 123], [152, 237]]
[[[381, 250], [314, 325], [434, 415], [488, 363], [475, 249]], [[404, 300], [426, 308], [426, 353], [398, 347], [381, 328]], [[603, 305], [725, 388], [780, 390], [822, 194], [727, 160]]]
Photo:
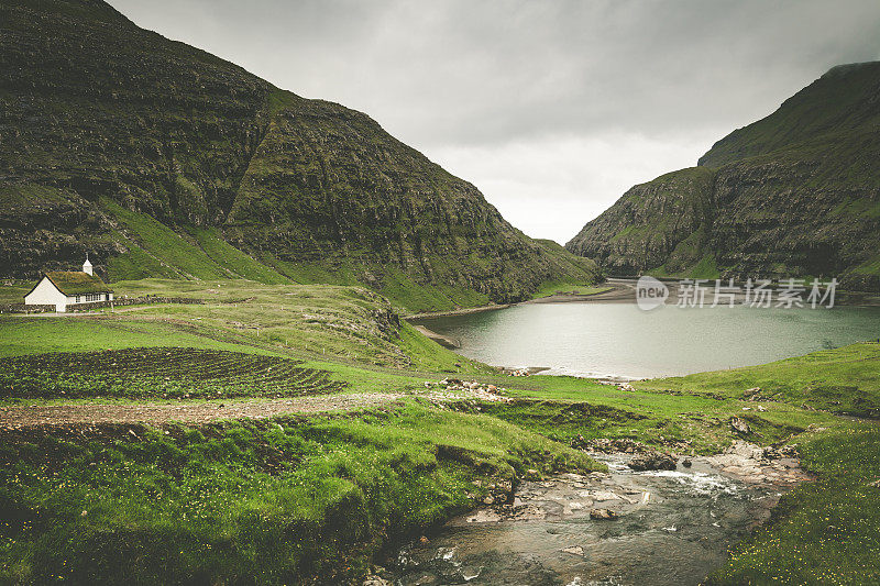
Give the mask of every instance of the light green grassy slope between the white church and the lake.
[[[3, 333], [0, 356], [107, 347], [170, 345], [233, 350], [243, 345], [360, 365], [488, 371], [398, 321], [386, 299], [362, 287], [263, 285], [241, 279], [143, 279], [116, 283], [113, 289], [118, 298], [151, 295], [209, 302], [107, 309], [98, 319], [0, 317]], [[462, 366], [454, 366], [457, 363]]]

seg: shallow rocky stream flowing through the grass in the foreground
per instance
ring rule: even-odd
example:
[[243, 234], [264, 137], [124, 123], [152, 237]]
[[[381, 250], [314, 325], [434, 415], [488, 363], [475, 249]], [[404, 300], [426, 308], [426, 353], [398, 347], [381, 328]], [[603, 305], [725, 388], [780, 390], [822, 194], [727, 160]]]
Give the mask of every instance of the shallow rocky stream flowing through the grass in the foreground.
[[[452, 519], [389, 561], [400, 586], [688, 585], [723, 565], [727, 548], [769, 517], [778, 485], [693, 467], [632, 472], [600, 455], [609, 474], [526, 482], [512, 505]], [[618, 512], [593, 520], [596, 507]]]

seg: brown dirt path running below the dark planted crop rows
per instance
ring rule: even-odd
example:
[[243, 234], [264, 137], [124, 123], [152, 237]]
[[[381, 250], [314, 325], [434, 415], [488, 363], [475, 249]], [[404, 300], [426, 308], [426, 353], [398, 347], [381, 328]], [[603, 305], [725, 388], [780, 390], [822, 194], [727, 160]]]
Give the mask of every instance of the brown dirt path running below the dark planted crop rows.
[[0, 429], [24, 429], [74, 423], [205, 423], [218, 419], [264, 419], [283, 413], [308, 414], [326, 411], [355, 411], [399, 399], [392, 392], [318, 395], [292, 399], [254, 399], [238, 402], [184, 405], [78, 403], [36, 405], [0, 408]]

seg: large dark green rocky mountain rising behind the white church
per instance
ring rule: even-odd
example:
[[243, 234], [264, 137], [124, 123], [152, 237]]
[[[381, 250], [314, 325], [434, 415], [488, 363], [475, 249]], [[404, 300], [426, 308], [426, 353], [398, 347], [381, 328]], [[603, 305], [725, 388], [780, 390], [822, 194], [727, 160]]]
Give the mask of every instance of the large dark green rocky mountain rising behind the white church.
[[98, 0], [0, 4], [0, 277], [362, 283], [414, 309], [595, 264], [532, 241], [366, 114]]

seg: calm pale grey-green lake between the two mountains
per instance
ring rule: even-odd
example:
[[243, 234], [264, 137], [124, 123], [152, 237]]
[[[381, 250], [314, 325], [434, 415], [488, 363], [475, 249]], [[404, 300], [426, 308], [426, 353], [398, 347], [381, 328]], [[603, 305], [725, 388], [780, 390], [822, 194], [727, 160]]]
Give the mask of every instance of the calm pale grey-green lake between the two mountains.
[[526, 303], [422, 320], [460, 353], [494, 366], [549, 374], [672, 376], [763, 364], [880, 338], [880, 308], [642, 311], [635, 303]]

